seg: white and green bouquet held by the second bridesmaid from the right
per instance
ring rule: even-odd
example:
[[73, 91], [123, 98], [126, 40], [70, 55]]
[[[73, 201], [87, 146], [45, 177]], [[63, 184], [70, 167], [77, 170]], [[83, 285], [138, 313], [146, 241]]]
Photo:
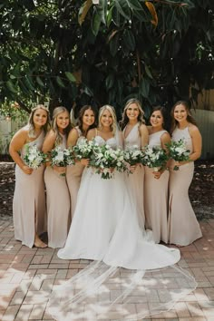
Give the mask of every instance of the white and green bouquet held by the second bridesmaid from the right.
[[166, 166], [169, 159], [165, 150], [158, 146], [147, 146], [142, 153], [142, 164], [159, 171]]

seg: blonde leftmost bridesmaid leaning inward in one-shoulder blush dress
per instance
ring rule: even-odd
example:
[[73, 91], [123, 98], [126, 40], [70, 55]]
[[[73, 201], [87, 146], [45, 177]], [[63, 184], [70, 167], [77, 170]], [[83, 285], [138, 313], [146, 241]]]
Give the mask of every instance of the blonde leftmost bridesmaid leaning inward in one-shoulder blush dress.
[[38, 149], [42, 148], [48, 123], [48, 110], [44, 105], [37, 105], [30, 114], [28, 124], [15, 133], [9, 147], [16, 163], [13, 202], [15, 239], [29, 248], [47, 247], [39, 238], [46, 231], [44, 166], [37, 170], [30, 169], [24, 163], [24, 155], [28, 146], [36, 144]]

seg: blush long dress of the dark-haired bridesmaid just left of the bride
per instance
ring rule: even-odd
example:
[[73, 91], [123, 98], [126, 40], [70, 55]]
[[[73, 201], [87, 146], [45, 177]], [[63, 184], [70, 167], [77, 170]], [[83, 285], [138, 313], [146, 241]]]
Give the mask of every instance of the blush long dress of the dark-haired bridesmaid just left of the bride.
[[[78, 144], [79, 141], [85, 140], [85, 137], [78, 127], [76, 127], [76, 130], [78, 132], [76, 144]], [[71, 219], [73, 219], [73, 213], [76, 207], [77, 193], [80, 188], [83, 169], [84, 165], [82, 165], [80, 161], [77, 161], [75, 165], [68, 166], [66, 170], [66, 180], [71, 197]]]

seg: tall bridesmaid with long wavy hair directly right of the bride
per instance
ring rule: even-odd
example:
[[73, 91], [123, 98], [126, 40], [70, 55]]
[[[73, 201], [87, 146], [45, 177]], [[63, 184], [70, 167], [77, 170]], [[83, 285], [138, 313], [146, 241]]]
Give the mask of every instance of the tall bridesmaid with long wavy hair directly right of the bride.
[[[144, 112], [141, 109], [141, 103], [137, 99], [130, 99], [126, 102], [122, 113], [122, 136], [124, 149], [138, 146], [141, 150], [149, 141], [149, 133], [143, 120]], [[139, 223], [144, 229], [145, 215], [143, 205], [143, 181], [144, 167], [142, 165], [131, 166], [132, 173], [126, 177], [127, 185], [136, 205], [139, 215]]]

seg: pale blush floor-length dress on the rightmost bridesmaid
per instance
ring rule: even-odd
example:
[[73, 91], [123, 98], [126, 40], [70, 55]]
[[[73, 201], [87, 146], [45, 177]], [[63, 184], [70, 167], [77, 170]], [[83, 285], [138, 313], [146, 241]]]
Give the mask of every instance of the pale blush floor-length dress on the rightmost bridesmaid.
[[[192, 141], [189, 127], [183, 130], [176, 128], [172, 141], [183, 139], [187, 150], [192, 152]], [[193, 178], [194, 162], [181, 165], [179, 170], [170, 166], [170, 200], [169, 200], [169, 243], [187, 246], [202, 237], [199, 222], [191, 207], [189, 187]]]

